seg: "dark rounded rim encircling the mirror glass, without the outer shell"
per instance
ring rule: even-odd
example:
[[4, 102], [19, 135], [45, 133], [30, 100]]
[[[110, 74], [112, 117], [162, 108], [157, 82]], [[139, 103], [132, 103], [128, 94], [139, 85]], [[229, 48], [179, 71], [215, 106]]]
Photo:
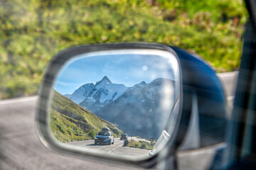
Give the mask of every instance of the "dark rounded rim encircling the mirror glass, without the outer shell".
[[[150, 157], [149, 159], [139, 160], [139, 161], [132, 161], [127, 159], [120, 159], [118, 157], [107, 157], [100, 154], [87, 154], [85, 152], [78, 152], [74, 151], [72, 149], [64, 148], [60, 145], [58, 145], [58, 142], [53, 140], [53, 138], [50, 135], [50, 132], [48, 130], [48, 108], [49, 108], [49, 100], [50, 100], [50, 93], [53, 86], [53, 83], [55, 81], [55, 77], [57, 73], [60, 71], [60, 69], [63, 67], [63, 65], [68, 62], [71, 58], [85, 54], [87, 52], [99, 52], [99, 51], [105, 51], [105, 50], [164, 50], [166, 52], [171, 52], [172, 55], [174, 55], [178, 61], [178, 64], [180, 66], [179, 72], [180, 72], [180, 106], [179, 106], [179, 114], [176, 122], [176, 128], [174, 129], [174, 133], [171, 134], [171, 138], [169, 142], [167, 142], [166, 147], [168, 148], [167, 151], [164, 152], [164, 154], [160, 154], [161, 151], [157, 154], [155, 154], [153, 157]], [[85, 46], [79, 46], [79, 47], [70, 47], [67, 50], [63, 50], [62, 52], [58, 53], [58, 55], [55, 55], [53, 57], [53, 60], [48, 64], [48, 68], [46, 70], [46, 74], [43, 77], [43, 81], [41, 84], [41, 89], [39, 91], [39, 99], [38, 99], [38, 107], [36, 110], [36, 131], [38, 133], [38, 137], [40, 138], [43, 145], [45, 145], [48, 149], [50, 149], [53, 152], [58, 152], [61, 154], [72, 154], [75, 157], [79, 158], [89, 158], [89, 159], [98, 159], [100, 161], [108, 161], [108, 162], [114, 162], [114, 163], [121, 163], [121, 164], [132, 164], [137, 166], [142, 166], [144, 168], [149, 168], [152, 166], [155, 166], [161, 160], [165, 160], [166, 157], [169, 155], [174, 155], [176, 150], [178, 149], [178, 146], [181, 145], [182, 140], [180, 139], [181, 134], [183, 136], [185, 133], [183, 133], [184, 128], [180, 128], [179, 120], [181, 119], [181, 108], [183, 106], [183, 89], [182, 89], [182, 74], [181, 74], [181, 64], [178, 59], [178, 55], [176, 55], [176, 52], [167, 45], [161, 45], [156, 43], [148, 43], [148, 42], [125, 42], [125, 43], [113, 43], [113, 44], [101, 44], [101, 45], [85, 45]], [[181, 130], [182, 132], [179, 132]], [[176, 138], [176, 135], [180, 133], [179, 137]], [[183, 137], [182, 137], [183, 138]], [[178, 139], [178, 140], [176, 140]], [[163, 156], [164, 155], [164, 156]]]

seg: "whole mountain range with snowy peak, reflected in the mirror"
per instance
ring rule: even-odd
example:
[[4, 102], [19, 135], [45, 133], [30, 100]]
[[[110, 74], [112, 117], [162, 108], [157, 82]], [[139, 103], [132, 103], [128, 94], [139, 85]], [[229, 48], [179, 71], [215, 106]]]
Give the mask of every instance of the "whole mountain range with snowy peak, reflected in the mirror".
[[[142, 81], [128, 88], [123, 84], [112, 84], [110, 79], [103, 77], [95, 85], [80, 86], [69, 98], [118, 125], [129, 136], [157, 138], [164, 130], [174, 104], [174, 82], [158, 78], [149, 84]], [[166, 91], [169, 91], [168, 100], [164, 96]], [[166, 101], [167, 110], [163, 108]]]

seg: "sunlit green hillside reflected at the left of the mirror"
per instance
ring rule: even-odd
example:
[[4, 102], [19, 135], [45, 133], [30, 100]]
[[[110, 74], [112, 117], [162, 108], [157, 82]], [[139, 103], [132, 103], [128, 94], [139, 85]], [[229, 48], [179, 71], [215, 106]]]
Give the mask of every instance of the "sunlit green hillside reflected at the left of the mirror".
[[97, 117], [57, 91], [53, 92], [50, 110], [50, 129], [60, 142], [94, 139], [104, 127], [110, 128], [114, 137], [122, 133], [117, 125]]

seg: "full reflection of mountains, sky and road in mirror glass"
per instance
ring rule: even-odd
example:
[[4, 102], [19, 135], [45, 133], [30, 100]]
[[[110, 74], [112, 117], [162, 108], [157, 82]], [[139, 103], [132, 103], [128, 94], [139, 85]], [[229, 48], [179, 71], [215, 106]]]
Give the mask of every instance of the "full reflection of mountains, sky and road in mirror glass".
[[179, 81], [170, 52], [112, 50], [73, 57], [55, 79], [50, 130], [75, 149], [150, 157], [171, 135]]

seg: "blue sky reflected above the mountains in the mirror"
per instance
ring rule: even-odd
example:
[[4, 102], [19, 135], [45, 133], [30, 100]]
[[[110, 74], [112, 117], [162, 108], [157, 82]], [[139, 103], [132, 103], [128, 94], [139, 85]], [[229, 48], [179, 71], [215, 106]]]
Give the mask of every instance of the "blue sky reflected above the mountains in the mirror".
[[173, 66], [156, 55], [80, 56], [71, 60], [58, 74], [53, 88], [60, 94], [72, 94], [83, 84], [96, 83], [107, 76], [114, 84], [134, 86], [156, 78], [174, 79]]

